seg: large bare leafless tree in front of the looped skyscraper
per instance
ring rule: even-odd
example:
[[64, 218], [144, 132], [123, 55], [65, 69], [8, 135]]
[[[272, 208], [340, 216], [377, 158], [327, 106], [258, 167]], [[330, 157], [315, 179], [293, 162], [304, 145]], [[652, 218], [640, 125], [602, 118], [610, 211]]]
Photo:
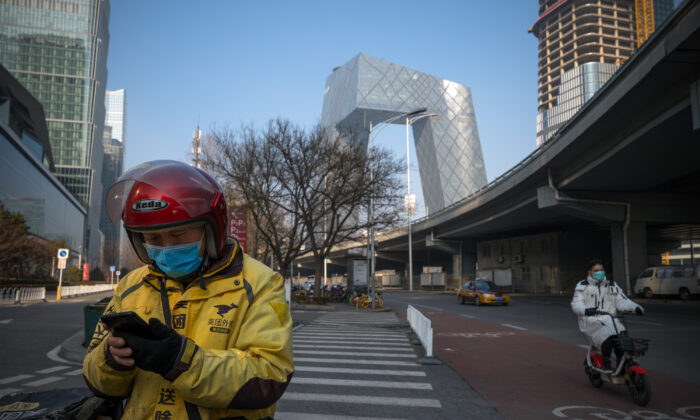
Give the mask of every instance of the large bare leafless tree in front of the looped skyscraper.
[[210, 167], [245, 197], [281, 270], [308, 245], [315, 260], [316, 296], [323, 261], [333, 246], [370, 227], [370, 198], [375, 228], [398, 220], [402, 167], [385, 149], [376, 149], [370, 162], [353, 136], [341, 138], [320, 126], [305, 132], [282, 119], [260, 132], [252, 127], [239, 133], [214, 130], [210, 139], [217, 144]]

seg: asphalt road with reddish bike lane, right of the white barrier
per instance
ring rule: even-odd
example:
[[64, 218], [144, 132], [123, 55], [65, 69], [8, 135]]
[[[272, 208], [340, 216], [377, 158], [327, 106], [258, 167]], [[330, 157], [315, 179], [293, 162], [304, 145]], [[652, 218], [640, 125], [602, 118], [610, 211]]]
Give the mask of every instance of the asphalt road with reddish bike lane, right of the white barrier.
[[586, 339], [569, 297], [516, 296], [506, 307], [477, 307], [458, 304], [454, 294], [383, 296], [400, 314], [411, 304], [430, 318], [436, 355], [506, 418], [700, 418], [698, 302], [644, 302], [647, 315], [629, 320], [633, 336], [652, 340], [641, 359], [652, 384], [644, 417], [624, 386], [595, 389], [588, 383]]

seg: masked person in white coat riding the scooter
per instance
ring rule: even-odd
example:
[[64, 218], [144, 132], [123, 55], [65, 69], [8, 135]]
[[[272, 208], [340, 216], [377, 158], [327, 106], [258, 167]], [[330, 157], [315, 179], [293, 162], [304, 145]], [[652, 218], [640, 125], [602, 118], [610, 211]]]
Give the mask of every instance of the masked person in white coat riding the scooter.
[[[596, 311], [608, 312], [613, 316], [618, 312], [635, 312], [638, 315], [644, 315], [644, 308], [625, 296], [614, 281], [608, 280], [605, 277], [603, 262], [595, 259], [588, 263], [588, 277], [576, 285], [571, 309], [578, 315], [578, 327], [581, 332], [600, 349], [604, 368], [612, 370], [610, 354], [613, 348], [618, 359], [621, 357], [615, 345], [617, 336], [612, 324], [613, 319], [607, 315], [596, 315]], [[614, 322], [617, 325], [617, 331], [625, 330], [620, 320], [615, 319]]]

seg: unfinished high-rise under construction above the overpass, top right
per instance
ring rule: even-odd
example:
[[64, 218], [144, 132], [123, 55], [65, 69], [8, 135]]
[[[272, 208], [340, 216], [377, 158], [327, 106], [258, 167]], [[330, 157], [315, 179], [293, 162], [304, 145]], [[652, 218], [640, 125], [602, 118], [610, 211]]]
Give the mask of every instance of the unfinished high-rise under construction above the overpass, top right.
[[566, 123], [673, 12], [673, 0], [539, 0], [537, 145]]

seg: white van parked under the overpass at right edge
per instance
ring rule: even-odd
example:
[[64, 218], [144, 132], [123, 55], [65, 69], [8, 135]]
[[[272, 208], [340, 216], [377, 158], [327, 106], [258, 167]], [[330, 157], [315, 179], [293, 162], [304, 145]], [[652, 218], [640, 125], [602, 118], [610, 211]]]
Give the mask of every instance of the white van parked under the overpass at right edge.
[[678, 295], [686, 300], [700, 295], [700, 265], [649, 267], [637, 277], [634, 293], [647, 299], [654, 295]]

